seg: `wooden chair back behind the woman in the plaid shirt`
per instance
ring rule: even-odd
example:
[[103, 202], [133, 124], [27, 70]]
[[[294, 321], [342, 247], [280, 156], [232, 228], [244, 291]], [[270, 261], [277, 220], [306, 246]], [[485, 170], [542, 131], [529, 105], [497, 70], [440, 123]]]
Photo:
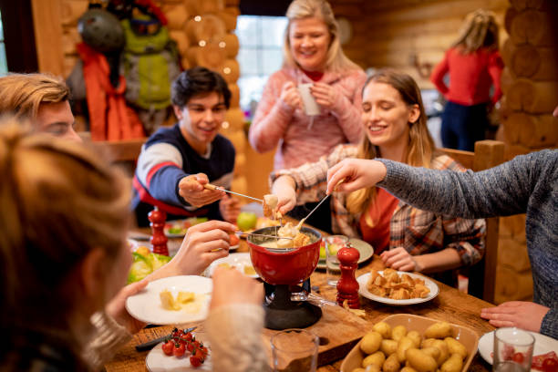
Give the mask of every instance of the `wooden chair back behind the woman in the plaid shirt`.
[[[501, 164], [504, 160], [504, 144], [497, 140], [480, 140], [475, 151], [439, 149], [472, 171], [483, 171]], [[500, 219], [486, 219], [485, 253], [482, 260], [469, 268], [469, 294], [494, 303], [496, 264], [498, 263], [498, 233]]]

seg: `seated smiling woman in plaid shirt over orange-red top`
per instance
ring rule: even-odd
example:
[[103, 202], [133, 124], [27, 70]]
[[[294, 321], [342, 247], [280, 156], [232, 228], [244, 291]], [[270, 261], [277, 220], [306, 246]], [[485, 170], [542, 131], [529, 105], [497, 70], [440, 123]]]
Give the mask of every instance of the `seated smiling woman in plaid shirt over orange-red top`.
[[[415, 81], [393, 70], [368, 78], [363, 89], [360, 145], [339, 145], [327, 157], [292, 170], [275, 171], [272, 191], [281, 212], [297, 203], [325, 196], [327, 170], [347, 158], [381, 157], [431, 169], [464, 169], [448, 156], [436, 154]], [[348, 195], [334, 192], [331, 202], [334, 233], [358, 237], [374, 246], [388, 267], [439, 273], [456, 284], [451, 269], [476, 263], [484, 253], [484, 220], [449, 218], [421, 211], [378, 188]]]

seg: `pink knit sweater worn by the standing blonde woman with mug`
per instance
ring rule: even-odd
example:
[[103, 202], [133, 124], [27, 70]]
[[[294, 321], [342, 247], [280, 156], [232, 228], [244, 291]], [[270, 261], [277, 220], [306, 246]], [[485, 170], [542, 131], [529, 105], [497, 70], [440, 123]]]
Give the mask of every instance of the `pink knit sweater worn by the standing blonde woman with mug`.
[[294, 85], [312, 83], [298, 68], [275, 72], [263, 88], [252, 126], [250, 143], [258, 152], [275, 152], [274, 170], [294, 168], [314, 162], [341, 143], [357, 143], [363, 129], [360, 124], [361, 94], [366, 75], [351, 70], [344, 75], [325, 72], [319, 82], [329, 84], [339, 93], [331, 109], [309, 117], [302, 109], [293, 109], [279, 99], [286, 82]]

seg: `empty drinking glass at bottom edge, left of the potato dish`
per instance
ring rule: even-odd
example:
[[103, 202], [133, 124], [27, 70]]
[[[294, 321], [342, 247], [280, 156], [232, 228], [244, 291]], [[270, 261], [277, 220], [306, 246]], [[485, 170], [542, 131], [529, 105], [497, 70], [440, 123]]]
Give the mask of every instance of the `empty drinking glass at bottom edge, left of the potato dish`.
[[274, 372], [315, 372], [319, 338], [310, 331], [289, 328], [271, 337]]

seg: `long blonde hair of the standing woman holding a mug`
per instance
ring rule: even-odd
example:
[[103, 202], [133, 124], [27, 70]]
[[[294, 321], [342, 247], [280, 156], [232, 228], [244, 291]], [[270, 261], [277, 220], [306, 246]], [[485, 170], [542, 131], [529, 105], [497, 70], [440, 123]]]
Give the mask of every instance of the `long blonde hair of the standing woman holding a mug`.
[[298, 67], [291, 53], [291, 40], [289, 38], [289, 31], [294, 20], [317, 17], [324, 21], [325, 26], [329, 30], [331, 40], [327, 48], [327, 55], [325, 61], [325, 69], [343, 72], [346, 70], [362, 70], [361, 67], [356, 65], [343, 53], [341, 43], [339, 42], [339, 26], [337, 25], [336, 17], [331, 10], [331, 6], [325, 0], [294, 0], [289, 5], [286, 11], [286, 17], [289, 23], [284, 31], [284, 67]]

